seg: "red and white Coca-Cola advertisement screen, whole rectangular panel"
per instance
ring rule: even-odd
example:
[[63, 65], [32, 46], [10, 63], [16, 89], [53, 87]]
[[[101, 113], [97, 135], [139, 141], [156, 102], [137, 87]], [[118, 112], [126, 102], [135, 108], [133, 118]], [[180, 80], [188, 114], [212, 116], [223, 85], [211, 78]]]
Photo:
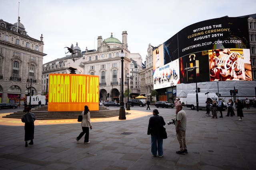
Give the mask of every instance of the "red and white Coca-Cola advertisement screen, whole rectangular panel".
[[211, 81], [252, 81], [250, 49], [216, 49], [209, 51]]

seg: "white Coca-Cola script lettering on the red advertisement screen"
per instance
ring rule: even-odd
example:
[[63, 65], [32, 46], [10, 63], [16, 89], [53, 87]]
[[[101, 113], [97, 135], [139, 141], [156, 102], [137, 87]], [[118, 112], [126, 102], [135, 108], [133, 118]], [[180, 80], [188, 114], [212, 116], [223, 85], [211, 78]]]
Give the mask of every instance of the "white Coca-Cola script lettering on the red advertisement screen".
[[229, 70], [244, 70], [244, 54], [232, 52], [230, 55], [220, 55], [216, 58], [216, 66], [224, 67], [224, 69]]

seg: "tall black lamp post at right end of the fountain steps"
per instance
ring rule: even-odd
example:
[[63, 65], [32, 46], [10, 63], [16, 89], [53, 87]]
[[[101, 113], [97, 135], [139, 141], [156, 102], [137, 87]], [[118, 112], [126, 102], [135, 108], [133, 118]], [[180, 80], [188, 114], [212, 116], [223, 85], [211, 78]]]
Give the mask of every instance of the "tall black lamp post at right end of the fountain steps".
[[124, 120], [125, 117], [125, 109], [124, 109], [124, 51], [121, 51], [121, 103], [120, 103], [120, 109], [119, 109], [119, 119]]

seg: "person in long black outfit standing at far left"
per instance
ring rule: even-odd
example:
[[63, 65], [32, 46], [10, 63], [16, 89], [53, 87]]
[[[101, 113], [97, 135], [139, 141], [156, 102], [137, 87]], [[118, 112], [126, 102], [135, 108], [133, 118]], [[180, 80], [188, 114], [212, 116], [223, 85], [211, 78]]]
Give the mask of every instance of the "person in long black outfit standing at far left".
[[[22, 116], [21, 121], [25, 123], [25, 147], [28, 147], [28, 144], [34, 144], [34, 121], [36, 120], [36, 116], [34, 115], [34, 113], [31, 113], [31, 107], [27, 107], [26, 109], [24, 109], [23, 112], [27, 112]], [[29, 140], [30, 143], [28, 143]]]

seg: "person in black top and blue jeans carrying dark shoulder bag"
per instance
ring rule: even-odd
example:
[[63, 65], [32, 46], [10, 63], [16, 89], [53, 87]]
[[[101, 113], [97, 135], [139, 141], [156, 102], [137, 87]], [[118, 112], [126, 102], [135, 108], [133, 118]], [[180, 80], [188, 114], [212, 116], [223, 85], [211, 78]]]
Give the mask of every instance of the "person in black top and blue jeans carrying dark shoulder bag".
[[164, 118], [158, 115], [157, 109], [153, 110], [153, 116], [150, 117], [148, 122], [148, 135], [151, 135], [151, 152], [152, 156], [156, 157], [158, 151], [158, 156], [162, 158], [164, 156], [163, 151], [163, 139], [160, 137], [162, 132], [162, 127], [165, 125]]

